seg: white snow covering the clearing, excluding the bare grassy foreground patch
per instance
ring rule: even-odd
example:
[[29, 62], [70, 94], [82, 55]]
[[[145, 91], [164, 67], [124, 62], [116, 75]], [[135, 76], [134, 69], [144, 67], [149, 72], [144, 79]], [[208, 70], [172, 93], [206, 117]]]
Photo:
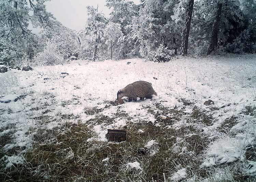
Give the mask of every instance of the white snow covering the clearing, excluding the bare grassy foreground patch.
[[[127, 64], [128, 61], [131, 63]], [[158, 96], [118, 106], [109, 104], [116, 99], [119, 89], [137, 80], [151, 82]], [[10, 138], [0, 147], [4, 153], [12, 149], [19, 151], [2, 158], [6, 168], [25, 161], [23, 155], [33, 147], [33, 136], [40, 128], [52, 130], [63, 122], [82, 122], [95, 131], [87, 142], [106, 142], [107, 129], [148, 122], [163, 131], [193, 126], [208, 137], [211, 143], [205, 144], [207, 148], [200, 168], [217, 168], [221, 164], [239, 161], [244, 174], [256, 175], [255, 150], [254, 157], [246, 158], [246, 149], [255, 146], [256, 56], [180, 58], [168, 63], [142, 59], [78, 60], [65, 65], [34, 67], [33, 71], [6, 72], [0, 75], [0, 89], [0, 136]], [[214, 104], [204, 105], [209, 99]], [[183, 114], [179, 120], [167, 125], [154, 115], [161, 115], [159, 107]], [[210, 123], [191, 120], [195, 110], [210, 116]], [[120, 113], [125, 113], [126, 117], [120, 117]], [[69, 115], [75, 117], [70, 120], [60, 118]], [[89, 122], [99, 115], [111, 122]], [[168, 117], [172, 117], [171, 113], [160, 116], [162, 119]], [[232, 118], [229, 127], [227, 121]], [[228, 127], [228, 132], [222, 131], [224, 126]], [[143, 133], [143, 128], [137, 132]], [[156, 154], [158, 148], [151, 156]], [[126, 166], [143, 171], [143, 165], [138, 162], [128, 161]], [[181, 168], [171, 175], [170, 180], [181, 180], [188, 176], [188, 171]]]

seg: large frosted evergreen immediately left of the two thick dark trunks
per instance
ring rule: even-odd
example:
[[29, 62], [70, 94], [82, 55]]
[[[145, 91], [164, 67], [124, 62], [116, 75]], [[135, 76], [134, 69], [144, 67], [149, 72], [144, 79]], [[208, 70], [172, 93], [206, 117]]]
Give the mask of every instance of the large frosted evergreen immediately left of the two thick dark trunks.
[[175, 54], [173, 4], [162, 0], [145, 1], [133, 30], [140, 41], [140, 55], [152, 61], [169, 60]]

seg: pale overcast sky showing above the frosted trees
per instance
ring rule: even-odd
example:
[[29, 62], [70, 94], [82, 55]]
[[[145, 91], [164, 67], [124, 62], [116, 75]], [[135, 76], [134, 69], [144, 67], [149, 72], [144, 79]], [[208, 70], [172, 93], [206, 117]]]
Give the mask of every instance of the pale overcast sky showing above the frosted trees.
[[[140, 0], [131, 0], [140, 3]], [[105, 0], [52, 0], [46, 2], [46, 9], [51, 12], [63, 25], [74, 30], [84, 28], [87, 19], [86, 6], [93, 5], [108, 16], [110, 10], [105, 7]]]

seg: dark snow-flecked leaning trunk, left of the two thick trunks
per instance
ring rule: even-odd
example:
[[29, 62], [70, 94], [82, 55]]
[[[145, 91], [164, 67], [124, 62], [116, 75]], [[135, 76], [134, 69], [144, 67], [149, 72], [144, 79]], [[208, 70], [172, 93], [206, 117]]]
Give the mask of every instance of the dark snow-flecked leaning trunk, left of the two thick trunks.
[[188, 7], [186, 9], [185, 27], [183, 29], [182, 41], [181, 41], [181, 55], [187, 55], [188, 36], [191, 24], [191, 17], [193, 12], [194, 0], [188, 0]]

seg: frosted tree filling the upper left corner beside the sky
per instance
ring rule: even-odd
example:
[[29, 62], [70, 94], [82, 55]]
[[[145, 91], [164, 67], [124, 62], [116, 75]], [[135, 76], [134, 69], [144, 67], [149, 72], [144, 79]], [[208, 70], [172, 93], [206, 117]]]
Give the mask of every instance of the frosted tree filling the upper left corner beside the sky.
[[32, 22], [34, 27], [51, 27], [55, 24], [56, 19], [45, 10], [46, 1], [0, 1], [0, 37], [1, 46], [4, 45], [1, 49], [5, 50], [4, 59], [15, 62], [22, 59], [25, 54], [32, 59], [41, 49], [37, 41], [38, 36], [31, 33], [28, 26], [29, 22]]

